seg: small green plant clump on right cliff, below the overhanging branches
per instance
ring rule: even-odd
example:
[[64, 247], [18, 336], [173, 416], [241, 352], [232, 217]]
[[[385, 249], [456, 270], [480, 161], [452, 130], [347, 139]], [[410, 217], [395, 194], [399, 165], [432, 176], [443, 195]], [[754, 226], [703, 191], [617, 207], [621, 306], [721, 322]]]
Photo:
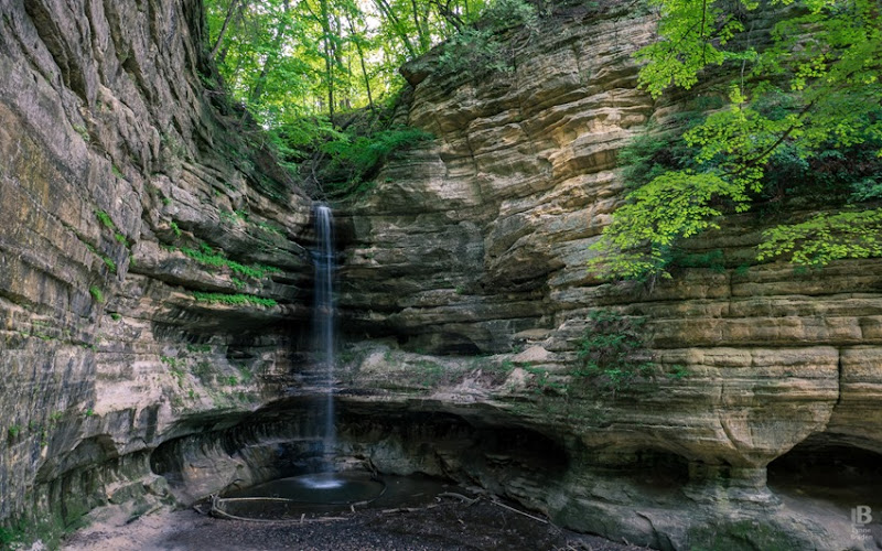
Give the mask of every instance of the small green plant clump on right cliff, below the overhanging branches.
[[638, 378], [652, 376], [657, 368], [646, 348], [645, 323], [644, 318], [609, 310], [591, 312], [577, 353], [582, 366], [571, 375], [595, 379], [600, 388], [613, 396]]

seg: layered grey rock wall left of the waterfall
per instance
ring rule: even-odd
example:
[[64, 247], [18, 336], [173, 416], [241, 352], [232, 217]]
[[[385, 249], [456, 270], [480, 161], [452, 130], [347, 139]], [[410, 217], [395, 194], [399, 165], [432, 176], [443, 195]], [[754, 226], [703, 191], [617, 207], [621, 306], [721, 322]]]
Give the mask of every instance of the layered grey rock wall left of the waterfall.
[[201, 2], [1, 11], [0, 519], [68, 523], [164, 495], [174, 423], [288, 370], [310, 202], [203, 84]]

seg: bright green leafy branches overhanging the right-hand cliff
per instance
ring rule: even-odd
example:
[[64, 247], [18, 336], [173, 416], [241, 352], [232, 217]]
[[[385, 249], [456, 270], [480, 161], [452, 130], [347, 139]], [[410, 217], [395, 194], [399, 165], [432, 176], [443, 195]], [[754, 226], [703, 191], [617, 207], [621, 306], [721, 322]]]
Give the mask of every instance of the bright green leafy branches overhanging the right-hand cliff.
[[[676, 162], [637, 171], [652, 177], [631, 182], [590, 269], [612, 279], [669, 277], [678, 244], [718, 227], [722, 214], [800, 195], [830, 210], [766, 231], [760, 260], [824, 266], [882, 256], [882, 209], [872, 204], [882, 198], [876, 0], [650, 3], [659, 23], [657, 40], [636, 54], [641, 86], [657, 98], [729, 75], [728, 105], [675, 139]], [[633, 144], [624, 160], [653, 154]]]

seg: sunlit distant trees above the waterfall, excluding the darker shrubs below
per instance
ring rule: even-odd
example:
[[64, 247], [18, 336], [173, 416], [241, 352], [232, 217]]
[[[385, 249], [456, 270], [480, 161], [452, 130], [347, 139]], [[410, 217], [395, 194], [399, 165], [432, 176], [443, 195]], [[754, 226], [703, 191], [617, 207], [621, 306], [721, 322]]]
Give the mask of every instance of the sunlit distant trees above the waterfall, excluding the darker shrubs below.
[[487, 0], [205, 0], [211, 55], [265, 126], [374, 108], [398, 67], [474, 22]]

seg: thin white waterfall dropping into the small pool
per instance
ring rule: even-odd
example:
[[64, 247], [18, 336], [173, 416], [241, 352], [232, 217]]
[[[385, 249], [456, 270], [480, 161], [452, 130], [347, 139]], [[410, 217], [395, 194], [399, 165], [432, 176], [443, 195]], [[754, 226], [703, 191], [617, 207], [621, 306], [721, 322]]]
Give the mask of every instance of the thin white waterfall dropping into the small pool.
[[315, 207], [315, 307], [313, 333], [315, 353], [323, 369], [324, 400], [324, 453], [334, 450], [334, 218], [325, 205]]

